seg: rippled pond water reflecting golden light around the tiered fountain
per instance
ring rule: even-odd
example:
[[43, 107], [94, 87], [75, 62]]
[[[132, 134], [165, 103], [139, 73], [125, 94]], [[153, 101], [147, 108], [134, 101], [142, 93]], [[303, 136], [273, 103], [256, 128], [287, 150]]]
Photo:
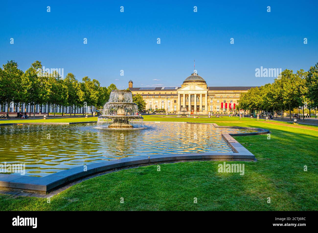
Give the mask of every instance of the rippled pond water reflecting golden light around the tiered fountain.
[[26, 174], [45, 176], [103, 160], [128, 156], [232, 152], [209, 124], [145, 123], [143, 130], [108, 130], [90, 124], [8, 125], [0, 127], [0, 162], [25, 163]]

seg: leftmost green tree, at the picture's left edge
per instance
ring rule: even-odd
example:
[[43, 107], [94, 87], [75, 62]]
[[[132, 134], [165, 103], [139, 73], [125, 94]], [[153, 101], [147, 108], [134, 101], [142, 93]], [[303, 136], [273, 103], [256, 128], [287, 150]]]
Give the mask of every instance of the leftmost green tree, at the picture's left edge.
[[9, 114], [10, 103], [25, 102], [27, 98], [28, 79], [18, 69], [17, 62], [11, 60], [0, 68], [0, 103], [7, 104]]

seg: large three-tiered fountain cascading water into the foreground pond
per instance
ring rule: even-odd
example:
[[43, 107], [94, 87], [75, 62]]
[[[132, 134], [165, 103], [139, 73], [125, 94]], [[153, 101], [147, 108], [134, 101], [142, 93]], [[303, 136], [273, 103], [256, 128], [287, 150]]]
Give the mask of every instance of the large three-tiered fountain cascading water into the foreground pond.
[[138, 115], [137, 104], [129, 90], [112, 90], [109, 101], [104, 105], [103, 114], [97, 124], [107, 124], [110, 129], [139, 128], [143, 117]]

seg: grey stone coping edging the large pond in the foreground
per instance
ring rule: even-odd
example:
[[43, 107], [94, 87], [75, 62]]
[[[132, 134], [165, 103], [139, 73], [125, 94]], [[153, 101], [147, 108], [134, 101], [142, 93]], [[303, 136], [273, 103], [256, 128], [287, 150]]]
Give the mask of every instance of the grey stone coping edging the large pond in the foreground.
[[[89, 123], [89, 122], [84, 122]], [[190, 123], [187, 124], [211, 124], [211, 123]], [[54, 189], [65, 186], [73, 181], [92, 176], [97, 173], [102, 173], [112, 169], [118, 169], [128, 166], [148, 165], [153, 163], [173, 162], [173, 161], [190, 161], [190, 160], [244, 160], [255, 161], [255, 156], [249, 152], [243, 145], [236, 141], [232, 136], [242, 135], [258, 135], [269, 133], [269, 130], [238, 127], [238, 126], [218, 126], [212, 123], [215, 127], [223, 128], [239, 128], [257, 130], [252, 133], [222, 133], [222, 137], [233, 149], [233, 152], [202, 152], [202, 153], [185, 153], [185, 154], [164, 154], [151, 156], [132, 156], [122, 159], [107, 160], [98, 163], [78, 166], [45, 177], [33, 177], [27, 175], [14, 175], [0, 173], [0, 189], [11, 191], [23, 191], [30, 193], [46, 194]]]

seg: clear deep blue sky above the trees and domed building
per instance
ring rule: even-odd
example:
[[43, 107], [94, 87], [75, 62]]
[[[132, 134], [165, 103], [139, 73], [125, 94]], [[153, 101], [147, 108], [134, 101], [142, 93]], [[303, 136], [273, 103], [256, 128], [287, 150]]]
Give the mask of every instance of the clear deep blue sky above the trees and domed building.
[[274, 78], [255, 77], [256, 68], [318, 62], [317, 12], [316, 0], [2, 1], [0, 62], [26, 70], [40, 60], [64, 76], [127, 88], [130, 79], [134, 87], [180, 86], [195, 59], [208, 86], [259, 86]]

